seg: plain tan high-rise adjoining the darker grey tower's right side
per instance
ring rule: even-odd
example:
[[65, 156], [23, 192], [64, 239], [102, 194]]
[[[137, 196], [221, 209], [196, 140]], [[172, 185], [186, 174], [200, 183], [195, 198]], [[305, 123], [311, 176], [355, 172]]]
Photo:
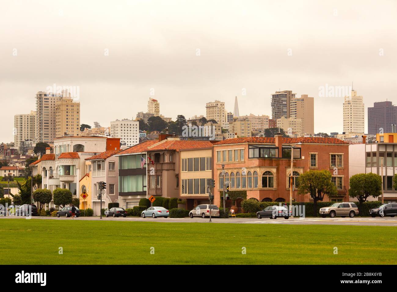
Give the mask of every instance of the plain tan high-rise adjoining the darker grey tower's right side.
[[302, 134], [314, 135], [314, 98], [307, 94], [291, 99], [289, 116], [302, 119]]

